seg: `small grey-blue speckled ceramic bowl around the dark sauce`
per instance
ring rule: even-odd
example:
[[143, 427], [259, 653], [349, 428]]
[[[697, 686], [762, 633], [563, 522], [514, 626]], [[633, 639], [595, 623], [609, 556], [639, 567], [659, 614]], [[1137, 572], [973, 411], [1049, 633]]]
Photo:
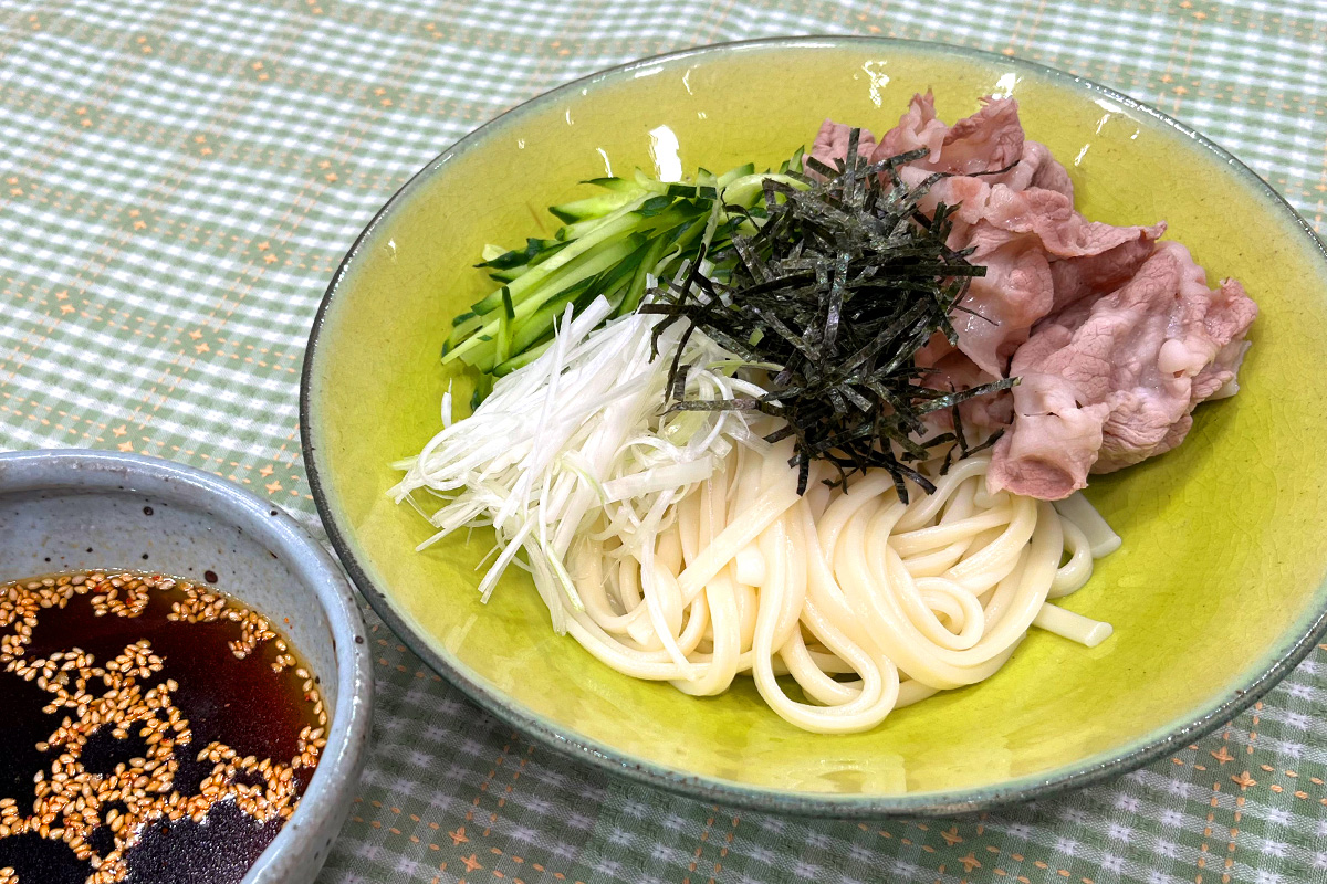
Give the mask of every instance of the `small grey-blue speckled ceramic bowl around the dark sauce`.
[[349, 811], [373, 698], [364, 620], [336, 562], [291, 517], [208, 473], [96, 451], [0, 453], [0, 580], [123, 569], [199, 580], [259, 611], [321, 680], [328, 745], [244, 884], [308, 884]]

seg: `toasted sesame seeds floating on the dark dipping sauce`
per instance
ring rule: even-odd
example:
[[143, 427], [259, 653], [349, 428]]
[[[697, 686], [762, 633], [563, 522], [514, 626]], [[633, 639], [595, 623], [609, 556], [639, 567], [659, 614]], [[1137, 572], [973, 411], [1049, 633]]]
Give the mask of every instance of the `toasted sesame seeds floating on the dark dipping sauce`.
[[[190, 750], [214, 769], [198, 786], [198, 794], [186, 799], [175, 787], [180, 767], [176, 753], [191, 742], [192, 732], [188, 718], [175, 706], [174, 694], [180, 685], [174, 679], [154, 679], [163, 672], [166, 660], [154, 652], [151, 641], [139, 639], [105, 661], [77, 647], [53, 651], [45, 659], [25, 659], [41, 611], [64, 610], [70, 599], [84, 596], [94, 616], [133, 619], [149, 608], [154, 592], [167, 590], [179, 598], [170, 602], [165, 620], [234, 623], [238, 637], [230, 641], [230, 649], [238, 659], [247, 659], [271, 643], [272, 651], [265, 652], [269, 663], [260, 665], [271, 665], [277, 675], [293, 669], [293, 676], [303, 681], [301, 691], [311, 704], [307, 716], [317, 726], [303, 728], [299, 751], [288, 763], [212, 742], [196, 754]], [[115, 884], [127, 875], [125, 855], [141, 842], [153, 820], [202, 823], [224, 801], [234, 801], [259, 823], [284, 820], [295, 812], [307, 782], [307, 775], [296, 771], [317, 763], [326, 744], [322, 740], [326, 713], [308, 669], [296, 668], [287, 643], [257, 612], [215, 592], [199, 591], [184, 580], [98, 571], [0, 584], [0, 630], [7, 630], [0, 635], [4, 672], [48, 693], [46, 714], [61, 709], [69, 713], [46, 740], [35, 744], [38, 751], [60, 754], [50, 762], [49, 774], [41, 770], [33, 774], [33, 812], [21, 814], [15, 798], [0, 799], [0, 840], [29, 831], [44, 839], [64, 840], [93, 869], [86, 879], [89, 884]], [[115, 765], [111, 774], [89, 773], [82, 765], [84, 746], [104, 726], [117, 740], [126, 740], [131, 732], [143, 738], [145, 755]], [[260, 783], [236, 782], [242, 773], [259, 775]], [[122, 803], [125, 810], [107, 808], [111, 803]], [[102, 826], [114, 839], [113, 847], [98, 855], [88, 835]], [[12, 868], [0, 868], [0, 884], [13, 880]]]

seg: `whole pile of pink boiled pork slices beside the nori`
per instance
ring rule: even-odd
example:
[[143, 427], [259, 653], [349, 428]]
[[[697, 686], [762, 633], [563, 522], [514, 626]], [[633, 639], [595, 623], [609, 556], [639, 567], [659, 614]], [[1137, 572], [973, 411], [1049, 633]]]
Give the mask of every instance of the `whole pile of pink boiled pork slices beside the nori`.
[[[825, 121], [812, 155], [833, 166], [848, 133]], [[1237, 390], [1254, 302], [1231, 280], [1209, 289], [1184, 247], [1157, 243], [1165, 224], [1115, 227], [1076, 212], [1068, 172], [1024, 139], [1014, 99], [986, 99], [946, 126], [930, 93], [914, 95], [897, 126], [878, 143], [863, 131], [857, 150], [872, 162], [925, 150], [900, 179], [916, 187], [946, 175], [921, 209], [957, 207], [949, 245], [986, 268], [951, 317], [957, 349], [937, 334], [917, 364], [941, 390], [1020, 379], [1013, 394], [959, 408], [977, 433], [1009, 428], [993, 453], [993, 490], [1066, 497], [1089, 472], [1174, 448], [1194, 406]], [[937, 429], [947, 421], [934, 415]]]

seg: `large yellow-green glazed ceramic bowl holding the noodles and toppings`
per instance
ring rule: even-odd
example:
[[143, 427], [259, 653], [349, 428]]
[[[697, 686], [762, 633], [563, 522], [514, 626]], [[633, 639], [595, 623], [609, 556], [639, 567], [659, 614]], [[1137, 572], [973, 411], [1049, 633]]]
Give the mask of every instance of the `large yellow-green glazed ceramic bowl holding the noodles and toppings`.
[[[1070, 167], [1079, 208], [1165, 219], [1210, 278], [1262, 306], [1242, 392], [1202, 406], [1177, 451], [1097, 478], [1124, 547], [1067, 607], [1115, 624], [1095, 649], [1034, 634], [989, 681], [871, 733], [796, 730], [738, 685], [697, 700], [557, 637], [515, 569], [488, 606], [475, 533], [430, 531], [385, 496], [387, 464], [439, 428], [451, 318], [486, 288], [484, 243], [549, 235], [544, 207], [640, 166], [776, 164], [832, 117], [876, 131], [934, 87], [947, 119], [1011, 93]], [[705, 801], [804, 814], [955, 812], [1082, 786], [1194, 740], [1286, 675], [1327, 626], [1323, 245], [1197, 133], [1095, 83], [940, 45], [863, 38], [711, 46], [596, 74], [499, 117], [419, 172], [328, 289], [304, 371], [318, 510], [378, 614], [479, 705], [551, 749]], [[467, 400], [463, 378], [458, 379]]]

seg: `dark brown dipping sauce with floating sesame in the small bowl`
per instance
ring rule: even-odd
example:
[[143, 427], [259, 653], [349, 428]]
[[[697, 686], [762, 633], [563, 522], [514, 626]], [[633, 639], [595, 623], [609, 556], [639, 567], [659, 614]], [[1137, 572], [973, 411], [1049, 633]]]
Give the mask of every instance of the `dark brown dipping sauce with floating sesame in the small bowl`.
[[232, 884], [326, 713], [253, 611], [159, 575], [0, 583], [0, 884]]

